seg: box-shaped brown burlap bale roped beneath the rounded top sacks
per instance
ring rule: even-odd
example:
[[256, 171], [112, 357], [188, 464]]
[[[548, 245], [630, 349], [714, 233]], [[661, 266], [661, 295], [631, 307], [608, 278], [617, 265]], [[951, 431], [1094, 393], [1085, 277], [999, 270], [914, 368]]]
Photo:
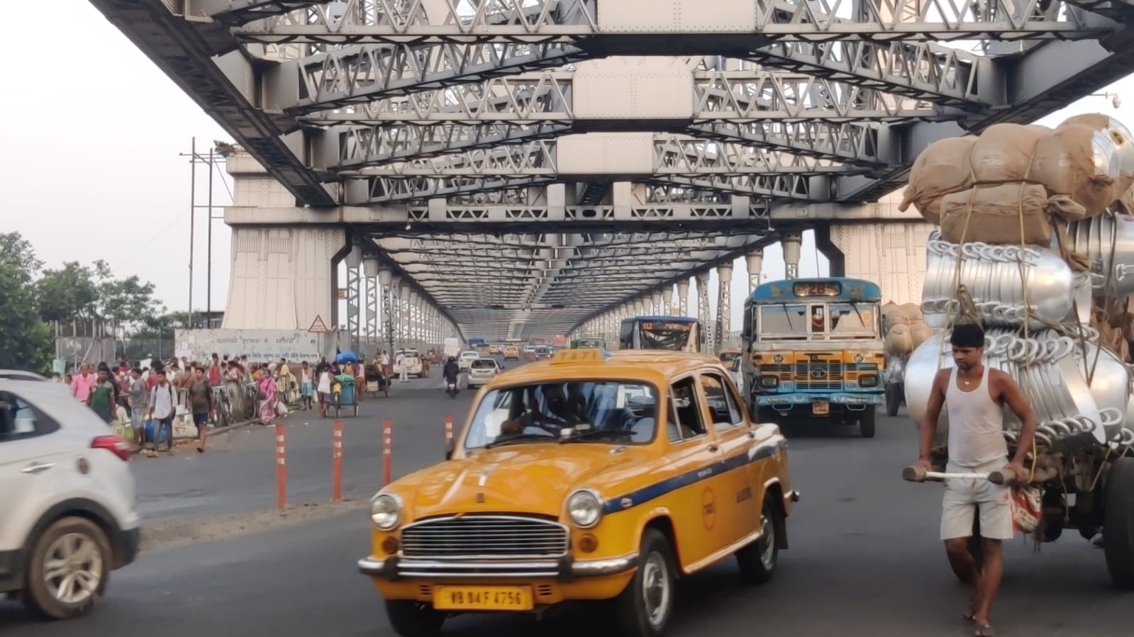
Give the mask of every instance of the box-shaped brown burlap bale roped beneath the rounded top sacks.
[[1050, 246], [1051, 216], [1047, 205], [1043, 186], [1034, 184], [979, 186], [954, 193], [941, 199], [941, 238], [954, 244], [964, 239], [964, 243]]

